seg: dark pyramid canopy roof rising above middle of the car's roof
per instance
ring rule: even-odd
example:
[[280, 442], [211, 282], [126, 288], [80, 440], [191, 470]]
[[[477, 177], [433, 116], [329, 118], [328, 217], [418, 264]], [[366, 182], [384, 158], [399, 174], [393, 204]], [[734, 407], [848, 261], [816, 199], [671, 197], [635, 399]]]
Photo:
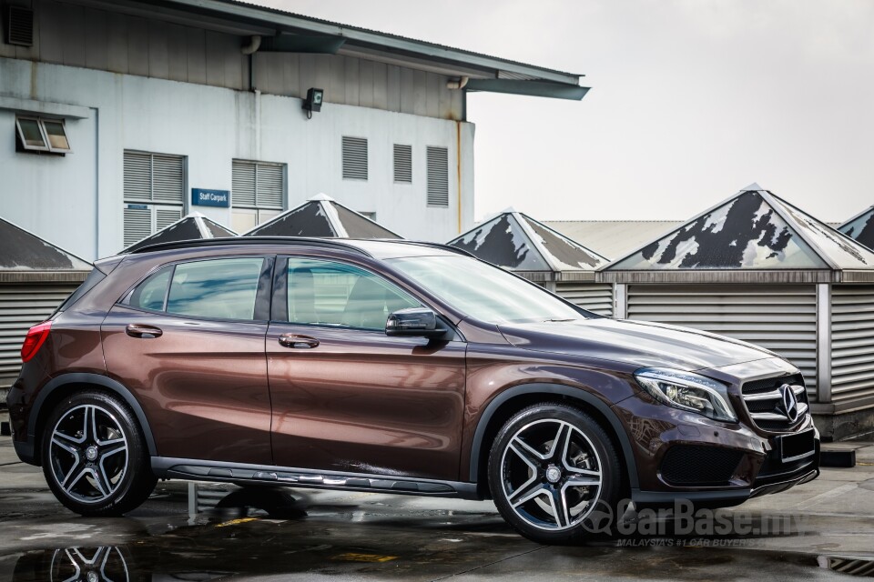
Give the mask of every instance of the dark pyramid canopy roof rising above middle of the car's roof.
[[321, 236], [326, 238], [402, 238], [326, 194], [312, 196], [243, 236]]

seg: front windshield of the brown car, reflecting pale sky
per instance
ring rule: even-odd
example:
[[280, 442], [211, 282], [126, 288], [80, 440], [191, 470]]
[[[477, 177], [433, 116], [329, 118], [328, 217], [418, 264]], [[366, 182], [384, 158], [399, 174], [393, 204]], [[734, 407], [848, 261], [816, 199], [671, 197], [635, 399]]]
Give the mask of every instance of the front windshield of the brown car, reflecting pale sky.
[[544, 289], [466, 256], [417, 256], [387, 263], [447, 304], [493, 324], [584, 319]]

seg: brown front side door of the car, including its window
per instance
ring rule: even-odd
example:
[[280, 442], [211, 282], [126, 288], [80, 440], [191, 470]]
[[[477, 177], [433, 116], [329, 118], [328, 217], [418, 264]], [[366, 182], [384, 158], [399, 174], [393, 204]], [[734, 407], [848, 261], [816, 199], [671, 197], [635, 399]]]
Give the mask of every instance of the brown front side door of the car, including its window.
[[291, 256], [276, 273], [276, 464], [457, 480], [465, 343], [386, 336], [391, 311], [422, 304], [362, 266]]

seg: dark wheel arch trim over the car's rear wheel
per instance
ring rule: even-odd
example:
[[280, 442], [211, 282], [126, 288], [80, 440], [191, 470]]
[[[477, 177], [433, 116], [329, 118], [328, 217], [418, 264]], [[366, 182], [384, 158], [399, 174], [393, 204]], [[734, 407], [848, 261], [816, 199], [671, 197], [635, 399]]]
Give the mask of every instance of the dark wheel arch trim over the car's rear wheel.
[[[43, 424], [46, 418], [51, 414], [56, 404], [64, 397], [73, 394], [78, 390], [87, 389], [103, 389], [115, 396], [120, 396], [121, 399], [130, 407], [134, 416], [137, 418], [139, 429], [146, 439], [148, 454], [150, 457], [158, 456], [158, 449], [155, 447], [155, 439], [152, 437], [152, 429], [148, 424], [146, 414], [143, 412], [143, 407], [139, 405], [137, 398], [127, 389], [126, 386], [120, 384], [107, 376], [99, 374], [89, 374], [85, 372], [75, 372], [56, 376], [43, 386], [39, 391], [39, 396], [36, 396], [36, 401], [31, 410], [30, 418], [27, 422], [27, 434], [33, 439], [34, 457], [37, 463], [41, 463], [40, 449], [42, 443], [40, 439], [43, 437]], [[38, 430], [37, 430], [38, 428]]]

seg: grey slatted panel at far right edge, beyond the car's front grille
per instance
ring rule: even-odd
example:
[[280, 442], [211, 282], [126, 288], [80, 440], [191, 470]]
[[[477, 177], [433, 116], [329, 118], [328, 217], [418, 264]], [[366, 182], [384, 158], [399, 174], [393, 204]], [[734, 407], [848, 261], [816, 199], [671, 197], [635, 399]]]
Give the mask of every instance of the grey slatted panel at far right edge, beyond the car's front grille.
[[874, 286], [831, 287], [831, 394], [874, 395]]

